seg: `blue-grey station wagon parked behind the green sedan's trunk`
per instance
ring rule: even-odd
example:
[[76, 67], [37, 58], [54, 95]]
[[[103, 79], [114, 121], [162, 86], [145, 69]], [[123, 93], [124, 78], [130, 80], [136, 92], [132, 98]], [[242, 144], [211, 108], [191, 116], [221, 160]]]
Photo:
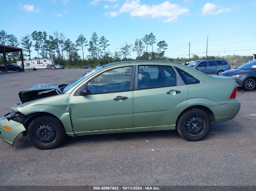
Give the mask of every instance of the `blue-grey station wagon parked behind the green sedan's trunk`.
[[221, 74], [226, 70], [230, 70], [230, 64], [225, 59], [201, 59], [187, 65], [205, 74]]

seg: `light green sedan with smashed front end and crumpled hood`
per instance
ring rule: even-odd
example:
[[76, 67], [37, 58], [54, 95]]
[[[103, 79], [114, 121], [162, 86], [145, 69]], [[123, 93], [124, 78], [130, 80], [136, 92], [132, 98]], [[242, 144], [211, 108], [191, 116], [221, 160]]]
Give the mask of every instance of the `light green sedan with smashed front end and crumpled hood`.
[[71, 84], [41, 84], [19, 92], [22, 104], [0, 118], [0, 137], [23, 133], [39, 149], [65, 137], [177, 129], [199, 141], [211, 122], [240, 110], [233, 78], [206, 75], [168, 61], [127, 61], [96, 68]]

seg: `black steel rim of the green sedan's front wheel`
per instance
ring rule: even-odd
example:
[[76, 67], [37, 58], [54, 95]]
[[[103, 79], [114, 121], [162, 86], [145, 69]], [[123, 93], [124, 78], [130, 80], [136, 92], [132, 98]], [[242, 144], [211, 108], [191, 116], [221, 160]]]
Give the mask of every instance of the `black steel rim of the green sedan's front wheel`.
[[53, 126], [42, 124], [35, 130], [35, 137], [39, 144], [50, 145], [57, 138], [57, 132]]

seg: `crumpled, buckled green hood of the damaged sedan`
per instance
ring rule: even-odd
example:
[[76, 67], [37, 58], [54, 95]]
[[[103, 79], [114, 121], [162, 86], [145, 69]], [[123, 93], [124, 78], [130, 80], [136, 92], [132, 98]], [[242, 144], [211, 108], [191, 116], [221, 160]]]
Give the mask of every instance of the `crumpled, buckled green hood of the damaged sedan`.
[[[39, 84], [32, 88], [28, 88], [26, 90], [19, 92], [19, 98], [22, 103], [31, 101], [34, 97], [38, 95], [39, 92], [48, 91], [48, 90], [55, 90], [56, 93], [62, 94], [60, 88], [65, 84]], [[46, 96], [48, 97], [48, 96]], [[43, 98], [42, 96], [40, 98]]]

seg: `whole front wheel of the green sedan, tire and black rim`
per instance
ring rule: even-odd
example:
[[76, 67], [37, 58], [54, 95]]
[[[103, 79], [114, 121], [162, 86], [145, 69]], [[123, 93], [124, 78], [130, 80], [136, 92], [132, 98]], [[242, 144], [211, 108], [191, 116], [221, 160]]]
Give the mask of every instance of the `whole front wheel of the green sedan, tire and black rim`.
[[27, 129], [28, 141], [38, 149], [53, 149], [58, 147], [64, 137], [65, 129], [54, 116], [43, 115], [32, 120]]

